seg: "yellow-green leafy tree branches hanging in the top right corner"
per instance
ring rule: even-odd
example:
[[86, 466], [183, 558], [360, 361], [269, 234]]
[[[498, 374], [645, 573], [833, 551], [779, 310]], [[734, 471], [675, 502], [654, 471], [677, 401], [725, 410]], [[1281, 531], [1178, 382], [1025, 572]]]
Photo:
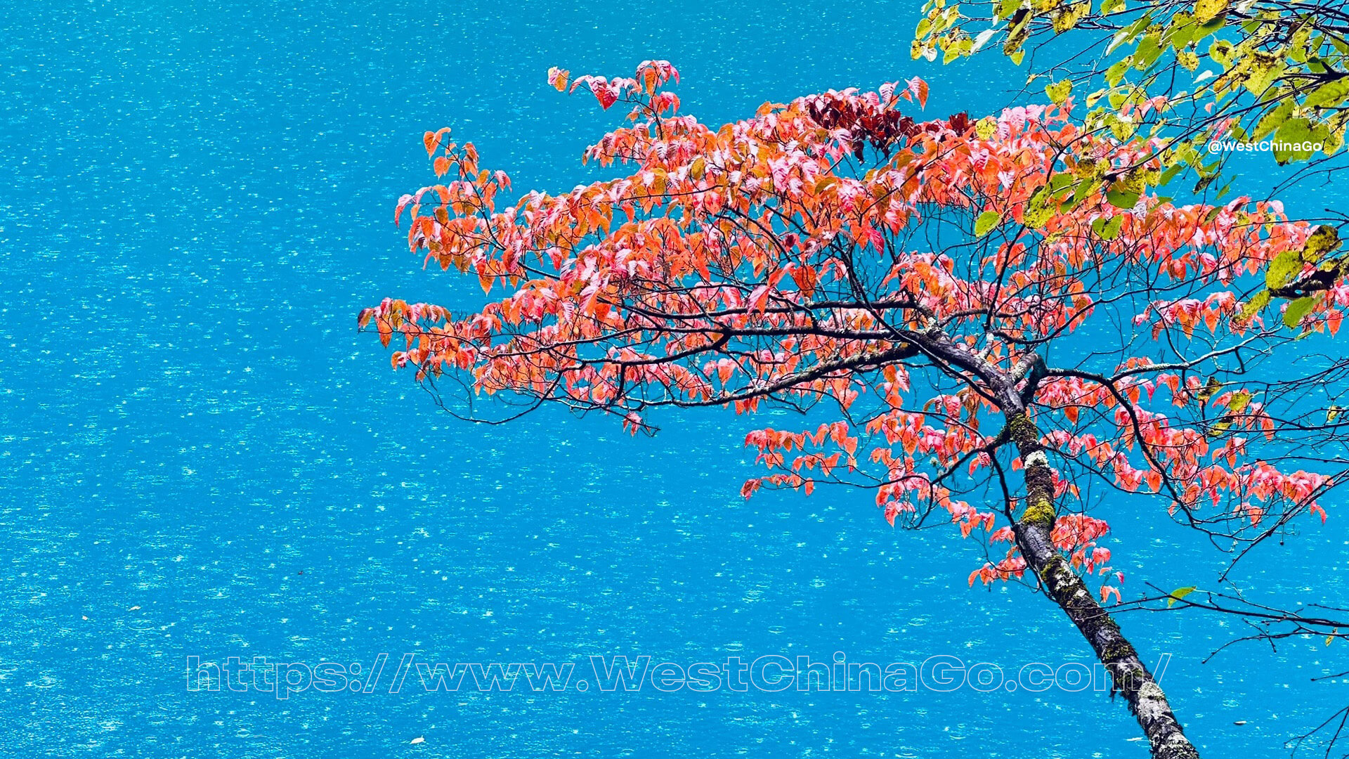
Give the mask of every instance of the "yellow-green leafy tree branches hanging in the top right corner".
[[1164, 138], [1161, 180], [1193, 169], [1197, 192], [1211, 185], [1230, 155], [1206, 149], [1218, 139], [1286, 146], [1272, 150], [1279, 163], [1309, 162], [1294, 178], [1345, 167], [1337, 158], [1349, 128], [1342, 3], [929, 0], [923, 11], [915, 58], [951, 62], [1001, 49], [1020, 65], [1029, 51], [1028, 88], [1043, 86], [1056, 103], [1087, 93], [1086, 128]]

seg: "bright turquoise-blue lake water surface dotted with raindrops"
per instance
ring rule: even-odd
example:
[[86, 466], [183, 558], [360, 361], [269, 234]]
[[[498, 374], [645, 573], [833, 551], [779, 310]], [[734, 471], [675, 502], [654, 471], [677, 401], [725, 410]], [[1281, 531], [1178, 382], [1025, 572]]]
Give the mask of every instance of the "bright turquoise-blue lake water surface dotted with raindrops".
[[[719, 662], [807, 655], [1016, 669], [1090, 662], [1020, 587], [969, 589], [954, 529], [893, 531], [870, 496], [738, 496], [753, 419], [653, 438], [540, 413], [473, 427], [389, 370], [357, 308], [473, 303], [391, 224], [453, 126], [515, 188], [592, 177], [619, 116], [545, 70], [680, 66], [720, 123], [923, 76], [928, 112], [996, 112], [1024, 73], [909, 59], [917, 3], [5, 4], [0, 15], [0, 754], [147, 758], [1143, 758], [1103, 693], [189, 691], [221, 662]], [[1341, 196], [1288, 197], [1319, 212]], [[759, 420], [762, 423], [762, 419]], [[781, 420], [778, 424], [786, 424]], [[1342, 509], [1238, 573], [1340, 602]], [[1224, 558], [1109, 501], [1145, 582]], [[1248, 644], [1230, 620], [1125, 614], [1206, 756], [1283, 756], [1344, 702], [1344, 646]], [[1236, 725], [1236, 721], [1245, 725]], [[422, 737], [421, 743], [411, 743]]]

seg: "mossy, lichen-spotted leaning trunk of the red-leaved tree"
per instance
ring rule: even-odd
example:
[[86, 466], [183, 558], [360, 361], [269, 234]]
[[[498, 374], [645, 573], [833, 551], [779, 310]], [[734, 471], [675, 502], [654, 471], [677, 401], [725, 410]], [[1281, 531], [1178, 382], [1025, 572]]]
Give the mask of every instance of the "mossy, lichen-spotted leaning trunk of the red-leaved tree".
[[1025, 511], [1013, 529], [1027, 565], [1110, 671], [1116, 691], [1124, 694], [1129, 710], [1152, 744], [1152, 756], [1198, 759], [1199, 752], [1180, 731], [1161, 686], [1143, 666], [1139, 652], [1120, 632], [1120, 625], [1097, 602], [1050, 539], [1055, 520], [1054, 475], [1040, 444], [1040, 431], [1020, 412], [1008, 415], [1008, 428], [1025, 465]]

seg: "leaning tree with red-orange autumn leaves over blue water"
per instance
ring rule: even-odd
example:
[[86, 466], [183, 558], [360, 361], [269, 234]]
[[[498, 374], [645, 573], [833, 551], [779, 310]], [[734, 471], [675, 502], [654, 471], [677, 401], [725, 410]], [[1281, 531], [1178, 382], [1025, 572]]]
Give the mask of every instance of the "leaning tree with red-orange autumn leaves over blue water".
[[[1120, 166], [1157, 170], [1157, 140], [1085, 131], [1066, 105], [919, 122], [915, 78], [714, 130], [679, 112], [677, 76], [664, 61], [549, 73], [631, 107], [585, 153], [627, 170], [569, 193], [499, 204], [505, 173], [426, 132], [448, 178], [403, 196], [395, 221], [410, 208], [413, 251], [506, 294], [471, 313], [386, 298], [359, 327], [398, 338], [393, 366], [467, 419], [552, 402], [633, 434], [662, 407], [823, 420], [749, 434], [768, 473], [742, 493], [863, 486], [892, 525], [948, 520], [990, 552], [970, 585], [1041, 590], [1153, 756], [1197, 756], [1102, 605], [1124, 578], [1093, 494], [1135, 494], [1241, 550], [1325, 517], [1341, 475], [1300, 469], [1317, 452], [1298, 436], [1341, 423], [1309, 423], [1326, 409], [1287, 388], [1298, 340], [1337, 332], [1349, 304], [1326, 276], [1336, 230], [1278, 203], [1110, 186]], [[507, 411], [482, 416], [479, 396]]]

